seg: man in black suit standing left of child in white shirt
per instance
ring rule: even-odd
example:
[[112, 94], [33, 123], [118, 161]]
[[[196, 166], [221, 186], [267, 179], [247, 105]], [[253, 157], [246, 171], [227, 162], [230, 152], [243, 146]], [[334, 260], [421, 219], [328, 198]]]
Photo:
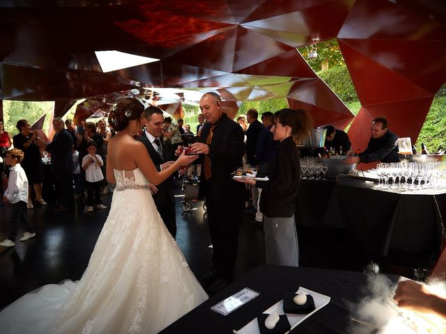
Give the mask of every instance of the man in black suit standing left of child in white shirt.
[[73, 208], [74, 201], [72, 195], [72, 136], [65, 129], [61, 118], [54, 118], [53, 141], [47, 145], [45, 150], [51, 153], [52, 173], [56, 180], [57, 206], [54, 211], [68, 211]]

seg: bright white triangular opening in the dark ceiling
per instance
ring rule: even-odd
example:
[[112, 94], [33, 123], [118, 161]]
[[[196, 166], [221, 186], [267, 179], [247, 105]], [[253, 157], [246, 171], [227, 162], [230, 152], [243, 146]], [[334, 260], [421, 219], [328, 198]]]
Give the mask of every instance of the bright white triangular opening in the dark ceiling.
[[112, 72], [123, 68], [133, 67], [159, 61], [159, 59], [126, 54], [121, 51], [95, 51], [102, 72]]

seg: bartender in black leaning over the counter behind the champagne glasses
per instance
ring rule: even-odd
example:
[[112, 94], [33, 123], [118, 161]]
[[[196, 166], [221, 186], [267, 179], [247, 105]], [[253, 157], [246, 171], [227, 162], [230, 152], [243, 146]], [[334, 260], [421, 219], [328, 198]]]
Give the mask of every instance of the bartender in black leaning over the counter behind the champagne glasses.
[[377, 117], [371, 122], [371, 138], [367, 149], [356, 157], [349, 157], [344, 164], [369, 163], [374, 161], [398, 162], [398, 136], [387, 128], [387, 118]]

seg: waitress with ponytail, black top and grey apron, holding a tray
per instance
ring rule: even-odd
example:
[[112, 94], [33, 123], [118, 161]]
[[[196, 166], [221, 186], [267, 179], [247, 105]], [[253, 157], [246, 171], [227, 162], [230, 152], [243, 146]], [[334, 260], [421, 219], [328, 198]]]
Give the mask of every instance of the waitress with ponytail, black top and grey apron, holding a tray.
[[310, 129], [312, 120], [302, 109], [277, 111], [271, 132], [280, 143], [270, 164], [269, 180], [236, 179], [263, 189], [260, 209], [263, 212], [266, 264], [299, 265], [294, 212], [300, 182], [300, 161], [293, 136], [303, 139]]

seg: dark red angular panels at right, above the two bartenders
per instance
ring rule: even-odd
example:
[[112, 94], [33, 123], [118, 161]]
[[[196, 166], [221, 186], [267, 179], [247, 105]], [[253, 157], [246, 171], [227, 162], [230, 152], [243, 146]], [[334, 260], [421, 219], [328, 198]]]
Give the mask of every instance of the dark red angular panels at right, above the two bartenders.
[[339, 32], [362, 104], [348, 130], [354, 149], [367, 147], [370, 132], [364, 129], [377, 116], [415, 143], [446, 81], [446, 1], [418, 2], [357, 0]]

